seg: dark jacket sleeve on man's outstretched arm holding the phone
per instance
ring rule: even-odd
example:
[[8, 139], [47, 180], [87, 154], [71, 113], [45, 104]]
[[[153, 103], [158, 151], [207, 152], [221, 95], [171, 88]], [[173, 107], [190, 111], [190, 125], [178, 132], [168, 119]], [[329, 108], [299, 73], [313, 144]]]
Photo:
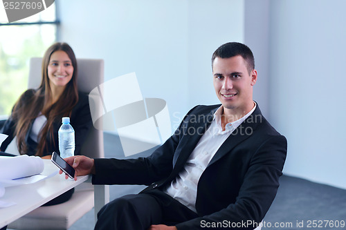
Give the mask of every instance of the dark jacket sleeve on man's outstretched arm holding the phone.
[[184, 120], [188, 115], [184, 117], [174, 134], [162, 146], [156, 148], [149, 157], [130, 160], [95, 159], [96, 173], [93, 175], [93, 184], [149, 185], [167, 178], [172, 172], [174, 153], [183, 135], [181, 127], [186, 123]]

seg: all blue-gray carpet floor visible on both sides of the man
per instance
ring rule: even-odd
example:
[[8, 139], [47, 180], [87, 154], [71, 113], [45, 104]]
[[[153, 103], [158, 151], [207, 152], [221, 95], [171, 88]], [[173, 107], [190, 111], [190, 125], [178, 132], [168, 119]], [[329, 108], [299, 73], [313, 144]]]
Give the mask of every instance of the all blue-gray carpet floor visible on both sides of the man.
[[[104, 151], [106, 157], [128, 158], [124, 156], [116, 135], [104, 134]], [[152, 151], [153, 149], [131, 157], [147, 156]], [[125, 194], [138, 193], [144, 187], [112, 185], [109, 189], [110, 200]], [[69, 230], [93, 229], [93, 212], [91, 210], [86, 213]], [[346, 229], [340, 227], [341, 221], [346, 222], [346, 190], [283, 175], [277, 196], [264, 218], [265, 226], [262, 229]]]

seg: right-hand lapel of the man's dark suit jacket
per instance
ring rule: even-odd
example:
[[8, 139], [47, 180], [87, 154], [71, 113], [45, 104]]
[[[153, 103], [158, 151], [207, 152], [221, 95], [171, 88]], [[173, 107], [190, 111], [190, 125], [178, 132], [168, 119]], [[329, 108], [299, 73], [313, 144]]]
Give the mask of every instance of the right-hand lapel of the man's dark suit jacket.
[[210, 164], [214, 164], [217, 162], [217, 160], [220, 160], [221, 157], [229, 153], [239, 143], [243, 142], [248, 137], [251, 137], [257, 125], [262, 122], [262, 119], [264, 119], [264, 117], [262, 116], [260, 108], [257, 104], [255, 111], [253, 111], [253, 113], [246, 118], [246, 120], [240, 124], [235, 131], [233, 131], [226, 141], [221, 144], [214, 157], [212, 157], [212, 160], [210, 160], [208, 166], [210, 166]]

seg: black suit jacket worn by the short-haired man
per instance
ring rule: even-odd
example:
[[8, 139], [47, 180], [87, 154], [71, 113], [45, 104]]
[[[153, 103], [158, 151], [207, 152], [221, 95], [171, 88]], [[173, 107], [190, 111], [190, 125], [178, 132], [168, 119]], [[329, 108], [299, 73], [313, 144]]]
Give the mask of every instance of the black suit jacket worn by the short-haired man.
[[[93, 183], [150, 184], [143, 192], [165, 188], [183, 169], [219, 106], [192, 108], [174, 135], [149, 157], [95, 160]], [[202, 173], [196, 200], [200, 218], [176, 227], [200, 229], [201, 222], [261, 222], [277, 193], [286, 148], [286, 138], [266, 121], [257, 105]]]

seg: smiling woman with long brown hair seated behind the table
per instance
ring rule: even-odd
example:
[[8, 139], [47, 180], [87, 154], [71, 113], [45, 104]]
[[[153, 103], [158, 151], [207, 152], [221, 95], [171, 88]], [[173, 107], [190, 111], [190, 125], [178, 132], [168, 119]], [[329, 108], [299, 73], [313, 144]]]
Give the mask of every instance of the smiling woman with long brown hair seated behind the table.
[[[77, 60], [66, 43], [55, 43], [46, 50], [42, 59], [42, 80], [39, 88], [29, 89], [19, 97], [12, 114], [1, 133], [8, 135], [0, 151], [17, 137], [19, 153], [51, 158], [53, 151], [60, 153], [57, 131], [62, 117], [70, 117], [75, 130], [75, 155], [91, 127], [91, 113], [87, 95], [78, 92]], [[71, 198], [73, 189], [48, 202], [59, 204]]]

